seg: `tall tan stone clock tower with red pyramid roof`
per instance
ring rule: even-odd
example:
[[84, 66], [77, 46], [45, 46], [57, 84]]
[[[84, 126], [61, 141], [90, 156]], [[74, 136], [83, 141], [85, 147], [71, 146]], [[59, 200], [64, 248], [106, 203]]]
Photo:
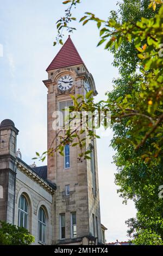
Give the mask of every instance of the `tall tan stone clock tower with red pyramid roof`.
[[[64, 132], [63, 109], [73, 105], [71, 95], [85, 95], [93, 90], [95, 82], [87, 70], [70, 36], [47, 68], [48, 80], [43, 81], [47, 94], [47, 147], [55, 149]], [[56, 113], [59, 126], [54, 127]], [[85, 151], [90, 149], [91, 160], [78, 159], [78, 145], [66, 144], [64, 156], [54, 152], [48, 156], [47, 179], [57, 184], [52, 222], [54, 244], [81, 244], [92, 237], [95, 243], [102, 242], [99, 206], [98, 167], [96, 140], [86, 141]]]

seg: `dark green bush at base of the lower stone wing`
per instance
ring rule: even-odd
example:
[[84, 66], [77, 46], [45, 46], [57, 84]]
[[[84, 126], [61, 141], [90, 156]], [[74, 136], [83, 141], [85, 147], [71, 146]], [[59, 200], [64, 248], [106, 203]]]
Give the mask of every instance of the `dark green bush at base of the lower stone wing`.
[[0, 223], [0, 245], [30, 245], [34, 242], [34, 236], [27, 229], [3, 221]]

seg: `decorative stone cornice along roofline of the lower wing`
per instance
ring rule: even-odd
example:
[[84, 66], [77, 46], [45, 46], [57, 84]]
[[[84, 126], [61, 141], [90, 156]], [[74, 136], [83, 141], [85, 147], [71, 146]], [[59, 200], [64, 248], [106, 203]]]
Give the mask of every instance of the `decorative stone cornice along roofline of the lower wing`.
[[55, 193], [55, 186], [52, 184], [50, 185], [48, 181], [42, 179], [38, 174], [36, 174], [32, 169], [28, 168], [25, 164], [21, 163], [20, 161], [16, 160], [17, 168], [26, 174], [30, 179], [34, 180], [39, 186], [43, 187], [47, 192], [54, 194]]

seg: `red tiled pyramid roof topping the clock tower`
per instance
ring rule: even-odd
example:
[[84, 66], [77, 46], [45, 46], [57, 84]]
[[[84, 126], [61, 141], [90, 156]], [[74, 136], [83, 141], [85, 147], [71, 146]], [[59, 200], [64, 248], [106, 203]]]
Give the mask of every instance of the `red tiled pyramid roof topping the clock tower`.
[[84, 62], [69, 35], [65, 44], [61, 47], [60, 51], [54, 57], [46, 71], [65, 68], [66, 66], [73, 66], [78, 64], [84, 64]]

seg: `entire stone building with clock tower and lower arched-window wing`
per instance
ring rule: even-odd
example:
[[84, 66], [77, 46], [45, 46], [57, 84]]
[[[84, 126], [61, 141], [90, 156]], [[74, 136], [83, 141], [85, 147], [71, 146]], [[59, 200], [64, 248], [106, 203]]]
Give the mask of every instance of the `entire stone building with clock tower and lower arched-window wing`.
[[[65, 107], [71, 96], [97, 95], [95, 82], [70, 36], [47, 68], [47, 148], [65, 134]], [[57, 123], [58, 122], [58, 123]], [[47, 166], [29, 166], [16, 150], [18, 130], [6, 119], [0, 125], [0, 220], [27, 228], [35, 244], [104, 243], [101, 229], [96, 140], [86, 139], [91, 159], [80, 161], [78, 145], [53, 151]], [[86, 136], [85, 132], [82, 136]], [[74, 142], [75, 143], [75, 139]], [[103, 226], [104, 227], [104, 226]], [[104, 236], [104, 234], [103, 234]]]

